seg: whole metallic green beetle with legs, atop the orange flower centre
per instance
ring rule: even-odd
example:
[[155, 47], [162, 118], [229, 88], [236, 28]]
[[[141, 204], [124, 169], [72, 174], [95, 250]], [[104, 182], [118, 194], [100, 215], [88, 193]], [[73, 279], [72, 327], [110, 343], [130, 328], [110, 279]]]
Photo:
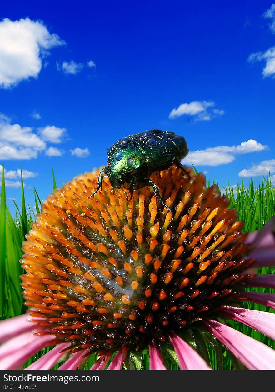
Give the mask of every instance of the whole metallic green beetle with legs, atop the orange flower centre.
[[159, 129], [120, 139], [107, 150], [107, 167], [101, 171], [98, 187], [92, 196], [102, 187], [103, 178], [108, 176], [112, 187], [129, 189], [131, 195], [134, 190], [152, 186], [159, 201], [170, 211], [159, 194], [159, 188], [149, 177], [153, 172], [168, 169], [173, 164], [186, 172], [180, 160], [188, 152], [183, 136]]

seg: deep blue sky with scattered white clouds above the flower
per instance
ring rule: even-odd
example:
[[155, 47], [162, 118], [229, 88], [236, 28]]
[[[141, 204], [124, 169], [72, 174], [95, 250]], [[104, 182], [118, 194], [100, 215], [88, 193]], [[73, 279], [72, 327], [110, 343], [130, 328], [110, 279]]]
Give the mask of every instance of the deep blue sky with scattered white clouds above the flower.
[[[0, 162], [7, 205], [107, 161], [123, 136], [186, 138], [221, 186], [275, 174], [272, 1], [14, 1], [0, 14]], [[258, 177], [259, 178], [259, 177]], [[275, 176], [273, 177], [275, 179]]]

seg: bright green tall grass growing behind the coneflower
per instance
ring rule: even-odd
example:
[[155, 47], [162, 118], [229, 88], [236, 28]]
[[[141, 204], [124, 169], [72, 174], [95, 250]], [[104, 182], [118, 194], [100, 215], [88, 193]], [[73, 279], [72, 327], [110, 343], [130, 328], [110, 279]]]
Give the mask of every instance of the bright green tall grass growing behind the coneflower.
[[[56, 188], [54, 171], [52, 171], [53, 178], [53, 189]], [[217, 184], [217, 181], [213, 183]], [[209, 181], [209, 186], [211, 185]], [[272, 216], [275, 215], [275, 187], [271, 183], [271, 176], [268, 175], [259, 181], [251, 179], [248, 187], [245, 187], [243, 182], [237, 183], [236, 187], [228, 185], [221, 190], [222, 193], [229, 197], [230, 208], [236, 208], [239, 213], [239, 220], [245, 221], [245, 231], [259, 230], [265, 223], [267, 223]], [[41, 200], [34, 188], [34, 202], [35, 202], [35, 213], [41, 211]], [[30, 225], [35, 219], [35, 213], [26, 206], [23, 178], [21, 173], [21, 205], [16, 207], [16, 216], [13, 218], [9, 209], [6, 206], [5, 196], [5, 178], [4, 178], [4, 167], [2, 173], [2, 189], [1, 189], [1, 203], [0, 203], [0, 319], [6, 319], [13, 316], [18, 316], [25, 312], [26, 308], [23, 305], [23, 297], [21, 295], [21, 286], [19, 276], [24, 273], [21, 269], [19, 260], [22, 258], [21, 243], [25, 240], [25, 235], [30, 230]], [[274, 268], [262, 268], [258, 270], [260, 274], [272, 274], [275, 272]], [[272, 292], [272, 289], [261, 289], [255, 288], [250, 289], [261, 292]], [[273, 290], [274, 292], [274, 290]], [[247, 307], [256, 310], [267, 310], [274, 312], [273, 309], [266, 309], [266, 307], [258, 304], [248, 303]], [[239, 331], [252, 336], [259, 341], [267, 344], [270, 347], [275, 348], [275, 342], [270, 338], [264, 336], [260, 332], [253, 330], [252, 328], [246, 327], [241, 323], [230, 321], [234, 328]], [[30, 359], [27, 365], [30, 365], [32, 361], [43, 355], [49, 348], [41, 350], [32, 359]], [[223, 368], [226, 370], [233, 368], [242, 368], [242, 365], [234, 358], [230, 352], [228, 352], [222, 345], [217, 344], [216, 347], [212, 347], [209, 344], [208, 353], [211, 366], [215, 369]], [[94, 361], [92, 356], [85, 368], [90, 368]], [[148, 350], [145, 350], [140, 359], [137, 359], [142, 363], [143, 368], [148, 369]], [[172, 369], [177, 369], [177, 366], [173, 364], [169, 358], [167, 358]], [[55, 367], [56, 368], [56, 367]]]

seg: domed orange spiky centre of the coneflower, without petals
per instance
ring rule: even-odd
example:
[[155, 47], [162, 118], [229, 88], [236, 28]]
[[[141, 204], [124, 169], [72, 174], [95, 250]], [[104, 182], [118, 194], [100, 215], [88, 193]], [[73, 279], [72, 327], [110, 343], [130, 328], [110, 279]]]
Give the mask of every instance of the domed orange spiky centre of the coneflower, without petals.
[[32, 316], [46, 318], [56, 342], [73, 352], [148, 347], [213, 315], [238, 296], [245, 259], [243, 223], [202, 173], [172, 166], [152, 175], [166, 204], [149, 187], [113, 189], [99, 170], [49, 196], [32, 224], [21, 276]]

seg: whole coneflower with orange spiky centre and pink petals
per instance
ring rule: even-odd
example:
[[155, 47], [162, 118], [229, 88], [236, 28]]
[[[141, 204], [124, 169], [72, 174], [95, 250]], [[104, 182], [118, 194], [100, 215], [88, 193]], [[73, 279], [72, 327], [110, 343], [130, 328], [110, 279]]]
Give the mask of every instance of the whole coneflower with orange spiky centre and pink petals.
[[[240, 321], [275, 338], [275, 314], [245, 309], [244, 301], [275, 308], [275, 295], [246, 287], [275, 287], [274, 220], [242, 233], [236, 210], [205, 176], [172, 166], [155, 173], [169, 212], [149, 187], [113, 189], [99, 170], [74, 178], [49, 196], [23, 243], [21, 276], [28, 314], [0, 323], [0, 368], [75, 370], [91, 354], [91, 369], [119, 370], [149, 348], [150, 369], [210, 369], [207, 342], [218, 339], [248, 369], [275, 369], [275, 350], [232, 328]], [[215, 338], [214, 338], [215, 337]], [[172, 356], [173, 357], [173, 356]]]

